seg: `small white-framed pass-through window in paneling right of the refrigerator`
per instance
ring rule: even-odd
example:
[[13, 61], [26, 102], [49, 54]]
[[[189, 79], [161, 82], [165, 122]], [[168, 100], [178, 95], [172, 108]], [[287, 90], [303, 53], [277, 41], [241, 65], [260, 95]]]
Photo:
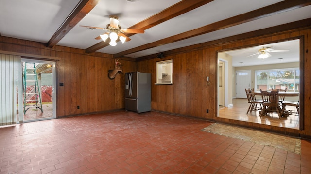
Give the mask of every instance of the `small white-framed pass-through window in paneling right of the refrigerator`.
[[155, 85], [173, 84], [173, 60], [156, 62]]

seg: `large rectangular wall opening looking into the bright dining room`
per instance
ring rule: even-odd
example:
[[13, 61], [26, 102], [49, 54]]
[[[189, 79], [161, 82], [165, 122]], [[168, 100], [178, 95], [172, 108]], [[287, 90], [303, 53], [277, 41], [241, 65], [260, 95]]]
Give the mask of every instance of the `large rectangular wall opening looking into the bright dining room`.
[[[287, 93], [290, 93], [292, 91], [289, 90], [292, 88], [298, 88], [300, 89], [299, 91], [293, 92], [298, 93], [299, 97], [293, 98], [292, 96], [287, 96], [285, 99], [286, 101], [300, 101], [299, 109], [301, 110], [303, 108], [303, 100], [301, 100], [303, 97], [303, 91], [301, 90], [302, 82], [300, 82], [300, 77], [302, 77], [301, 74], [303, 73], [303, 66], [301, 66], [303, 56], [300, 54], [302, 52], [301, 45], [301, 39], [293, 39], [283, 42], [268, 43], [265, 45], [218, 52], [218, 62], [225, 60], [228, 62], [227, 65], [229, 67], [229, 70], [224, 74], [221, 74], [221, 72], [218, 71], [218, 78], [220, 78], [220, 76], [222, 78], [224, 76], [228, 77], [225, 82], [227, 82], [227, 86], [229, 87], [227, 94], [220, 94], [218, 92], [218, 100], [220, 100], [219, 97], [221, 95], [226, 95], [228, 98], [225, 99], [225, 101], [227, 100], [229, 103], [232, 103], [232, 107], [226, 106], [225, 108], [220, 108], [218, 103], [217, 116], [221, 118], [277, 127], [292, 128], [297, 130], [303, 129], [303, 112], [299, 112], [299, 114], [296, 115], [291, 113], [287, 117], [279, 117], [273, 114], [270, 116], [260, 117], [259, 111], [253, 111], [247, 114], [247, 109], [250, 104], [248, 103], [246, 93], [244, 92], [245, 88], [254, 89], [255, 91], [260, 91], [260, 89], [270, 90], [286, 88], [288, 91]], [[259, 50], [262, 49], [265, 49], [266, 52], [270, 53], [267, 58], [260, 57]], [[219, 63], [218, 66], [218, 68], [220, 68], [220, 66], [223, 65]], [[278, 71], [270, 71], [275, 69]], [[293, 69], [298, 73], [291, 73], [293, 72]], [[259, 70], [264, 70], [269, 73], [267, 74], [267, 79], [261, 78], [260, 73], [256, 73]], [[275, 75], [274, 72], [276, 72], [277, 75]], [[299, 72], [300, 75], [294, 75], [299, 74]], [[241, 73], [240, 77], [237, 77], [238, 75], [236, 73]], [[240, 80], [240, 82], [237, 80]], [[266, 88], [263, 88], [263, 86]], [[220, 90], [220, 86], [218, 86], [218, 90]], [[295, 94], [295, 96], [297, 96], [297, 94]], [[258, 97], [261, 98], [261, 96]], [[281, 105], [281, 107], [283, 107], [283, 105]], [[295, 110], [295, 108], [293, 110]]]

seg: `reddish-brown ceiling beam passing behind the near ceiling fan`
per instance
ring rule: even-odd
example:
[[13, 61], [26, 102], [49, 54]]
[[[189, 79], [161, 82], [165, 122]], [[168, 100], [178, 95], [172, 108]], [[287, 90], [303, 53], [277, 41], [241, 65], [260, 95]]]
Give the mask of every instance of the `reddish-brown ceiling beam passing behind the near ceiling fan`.
[[[180, 14], [184, 14], [186, 12], [189, 12], [195, 8], [198, 8], [202, 5], [205, 5], [211, 1], [214, 0], [182, 0], [176, 4], [174, 4], [173, 6], [161, 11], [158, 14], [155, 14], [131, 27], [129, 27], [128, 29], [149, 29], [151, 27], [154, 27], [155, 25], [158, 25], [162, 22], [165, 22], [167, 20], [170, 20]], [[126, 36], [132, 36], [135, 33], [126, 33]], [[100, 43], [96, 43], [93, 46], [90, 46], [89, 48], [86, 48], [86, 53], [92, 53], [94, 51], [97, 51], [99, 49], [104, 48], [105, 46], [108, 46], [109, 43], [107, 42], [100, 42]]]

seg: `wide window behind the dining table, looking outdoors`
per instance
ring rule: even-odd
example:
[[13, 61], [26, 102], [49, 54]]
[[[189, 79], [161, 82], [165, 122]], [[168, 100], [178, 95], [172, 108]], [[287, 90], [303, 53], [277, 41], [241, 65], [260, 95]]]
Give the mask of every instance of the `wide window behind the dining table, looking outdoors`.
[[256, 74], [256, 89], [287, 89], [291, 92], [299, 92], [299, 68], [258, 70]]

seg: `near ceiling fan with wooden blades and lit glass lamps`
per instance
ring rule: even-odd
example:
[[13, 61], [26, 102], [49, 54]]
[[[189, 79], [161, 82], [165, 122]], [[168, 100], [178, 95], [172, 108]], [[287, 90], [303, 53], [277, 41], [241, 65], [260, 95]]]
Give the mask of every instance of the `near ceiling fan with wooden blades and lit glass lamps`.
[[109, 38], [109, 44], [111, 46], [116, 46], [116, 41], [119, 39], [122, 43], [125, 41], [130, 41], [131, 39], [127, 37], [124, 33], [144, 33], [144, 29], [121, 29], [119, 25], [119, 18], [118, 16], [111, 15], [109, 16], [110, 24], [107, 24], [106, 28], [101, 27], [91, 27], [91, 26], [80, 26], [80, 27], [87, 27], [89, 29], [102, 29], [107, 30], [104, 34], [96, 37], [95, 39], [102, 39], [104, 42]]

